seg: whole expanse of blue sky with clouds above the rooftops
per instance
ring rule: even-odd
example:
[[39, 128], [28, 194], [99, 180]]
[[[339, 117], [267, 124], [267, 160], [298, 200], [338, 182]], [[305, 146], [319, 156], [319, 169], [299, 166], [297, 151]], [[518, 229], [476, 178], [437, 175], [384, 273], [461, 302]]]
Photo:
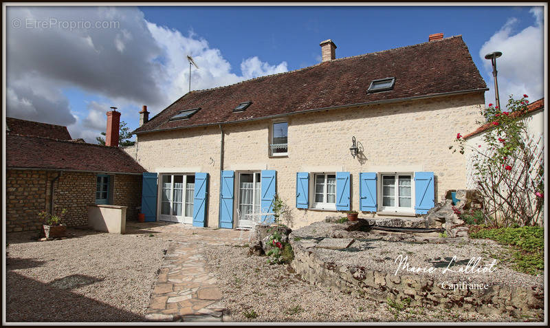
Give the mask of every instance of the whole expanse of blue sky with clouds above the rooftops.
[[[462, 34], [489, 87], [490, 63], [482, 56], [503, 52], [500, 97], [527, 93], [536, 100], [544, 96], [543, 8], [8, 7], [8, 116], [67, 125], [74, 138], [94, 142], [110, 106], [135, 129], [141, 105], [154, 115], [185, 94], [187, 54], [199, 65], [192, 89], [206, 89], [315, 65], [325, 39], [342, 58], [423, 43], [439, 32]], [[118, 25], [14, 28], [14, 20], [29, 17]], [[494, 101], [494, 91], [485, 98]]]

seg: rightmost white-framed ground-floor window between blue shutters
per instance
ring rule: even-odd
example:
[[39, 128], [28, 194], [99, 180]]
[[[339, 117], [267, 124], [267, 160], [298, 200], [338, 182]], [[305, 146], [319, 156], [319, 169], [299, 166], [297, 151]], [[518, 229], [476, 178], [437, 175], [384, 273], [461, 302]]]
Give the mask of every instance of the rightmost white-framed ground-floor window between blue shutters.
[[382, 210], [412, 209], [412, 175], [382, 174]]

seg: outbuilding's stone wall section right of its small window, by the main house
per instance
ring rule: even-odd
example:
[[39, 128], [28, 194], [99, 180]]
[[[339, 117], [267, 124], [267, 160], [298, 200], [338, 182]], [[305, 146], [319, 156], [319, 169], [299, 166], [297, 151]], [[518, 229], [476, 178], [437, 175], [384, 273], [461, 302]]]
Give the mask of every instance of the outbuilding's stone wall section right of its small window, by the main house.
[[142, 205], [141, 175], [115, 175], [113, 205], [126, 206], [126, 220], [137, 220], [137, 208]]

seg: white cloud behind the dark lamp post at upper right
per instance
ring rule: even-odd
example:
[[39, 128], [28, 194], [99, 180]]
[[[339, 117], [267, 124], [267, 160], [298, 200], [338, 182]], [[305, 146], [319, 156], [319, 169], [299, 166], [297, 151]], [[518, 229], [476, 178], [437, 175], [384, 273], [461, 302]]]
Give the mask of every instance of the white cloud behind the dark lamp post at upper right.
[[494, 102], [494, 80], [491, 61], [485, 59], [485, 54], [500, 51], [503, 56], [496, 60], [498, 71], [498, 94], [502, 107], [508, 101], [510, 94], [520, 98], [529, 95], [529, 100], [538, 100], [544, 96], [544, 22], [542, 8], [529, 10], [535, 19], [531, 25], [520, 32], [514, 27], [518, 19], [509, 19], [498, 32], [483, 44], [479, 56], [483, 61], [483, 69], [490, 77], [487, 80], [489, 91], [485, 93], [487, 103]]

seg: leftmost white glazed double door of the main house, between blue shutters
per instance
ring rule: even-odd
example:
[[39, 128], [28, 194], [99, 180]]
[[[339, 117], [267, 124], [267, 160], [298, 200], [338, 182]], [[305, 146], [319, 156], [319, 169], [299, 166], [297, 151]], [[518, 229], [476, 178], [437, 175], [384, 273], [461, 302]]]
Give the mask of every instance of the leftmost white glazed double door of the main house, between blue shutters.
[[160, 219], [192, 223], [195, 175], [162, 175]]

